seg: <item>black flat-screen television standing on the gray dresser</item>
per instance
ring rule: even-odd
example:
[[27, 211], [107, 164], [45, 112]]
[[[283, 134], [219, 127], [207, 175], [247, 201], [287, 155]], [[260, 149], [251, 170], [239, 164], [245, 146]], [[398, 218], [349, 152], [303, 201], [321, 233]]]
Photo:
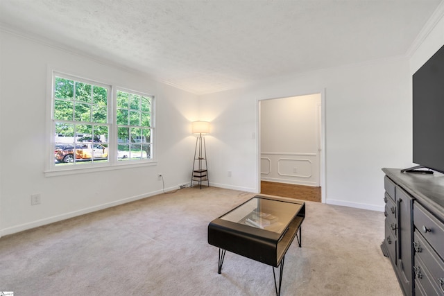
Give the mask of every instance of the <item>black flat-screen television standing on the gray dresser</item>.
[[413, 74], [413, 163], [444, 173], [444, 46]]

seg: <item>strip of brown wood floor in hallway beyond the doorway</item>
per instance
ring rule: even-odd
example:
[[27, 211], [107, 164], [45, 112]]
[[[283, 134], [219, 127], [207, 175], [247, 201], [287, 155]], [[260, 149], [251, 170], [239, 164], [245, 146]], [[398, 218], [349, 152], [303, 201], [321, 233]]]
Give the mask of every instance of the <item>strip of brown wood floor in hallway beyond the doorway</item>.
[[321, 187], [261, 181], [261, 193], [321, 202]]

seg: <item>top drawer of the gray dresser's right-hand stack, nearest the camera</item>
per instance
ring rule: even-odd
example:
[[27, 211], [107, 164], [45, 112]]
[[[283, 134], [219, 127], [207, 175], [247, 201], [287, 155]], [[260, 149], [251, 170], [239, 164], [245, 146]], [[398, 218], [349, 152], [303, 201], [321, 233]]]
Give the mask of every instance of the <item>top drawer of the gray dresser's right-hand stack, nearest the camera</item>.
[[444, 225], [417, 202], [413, 202], [413, 224], [434, 250], [444, 256]]

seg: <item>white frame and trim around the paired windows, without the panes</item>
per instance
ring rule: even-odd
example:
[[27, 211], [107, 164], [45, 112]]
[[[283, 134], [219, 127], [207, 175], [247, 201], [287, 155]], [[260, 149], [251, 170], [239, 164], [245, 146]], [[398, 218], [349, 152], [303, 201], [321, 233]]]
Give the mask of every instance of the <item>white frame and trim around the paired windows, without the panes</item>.
[[[68, 166], [56, 166], [54, 157], [55, 137], [56, 132], [54, 116], [54, 82], [57, 77], [69, 80], [76, 80], [80, 82], [105, 87], [108, 89], [108, 162], [85, 162]], [[151, 98], [151, 158], [150, 159], [128, 159], [119, 160], [117, 158], [117, 91], [127, 92], [130, 94], [137, 94]], [[46, 177], [58, 175], [71, 175], [76, 173], [89, 173], [94, 171], [108, 171], [115, 169], [131, 168], [138, 166], [155, 166], [155, 96], [153, 94], [146, 94], [146, 92], [139, 92], [132, 89], [119, 87], [112, 83], [99, 82], [94, 78], [83, 78], [75, 74], [69, 74], [67, 71], [58, 71], [49, 69], [48, 71], [48, 85], [47, 85], [47, 137], [46, 137], [46, 169], [44, 171]]]

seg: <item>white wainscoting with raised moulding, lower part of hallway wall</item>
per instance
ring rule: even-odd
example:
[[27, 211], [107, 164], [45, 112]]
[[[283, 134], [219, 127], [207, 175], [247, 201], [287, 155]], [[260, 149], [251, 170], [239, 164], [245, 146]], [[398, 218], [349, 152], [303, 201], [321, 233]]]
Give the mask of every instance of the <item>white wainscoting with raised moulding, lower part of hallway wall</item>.
[[318, 155], [316, 153], [261, 153], [261, 180], [320, 186]]

